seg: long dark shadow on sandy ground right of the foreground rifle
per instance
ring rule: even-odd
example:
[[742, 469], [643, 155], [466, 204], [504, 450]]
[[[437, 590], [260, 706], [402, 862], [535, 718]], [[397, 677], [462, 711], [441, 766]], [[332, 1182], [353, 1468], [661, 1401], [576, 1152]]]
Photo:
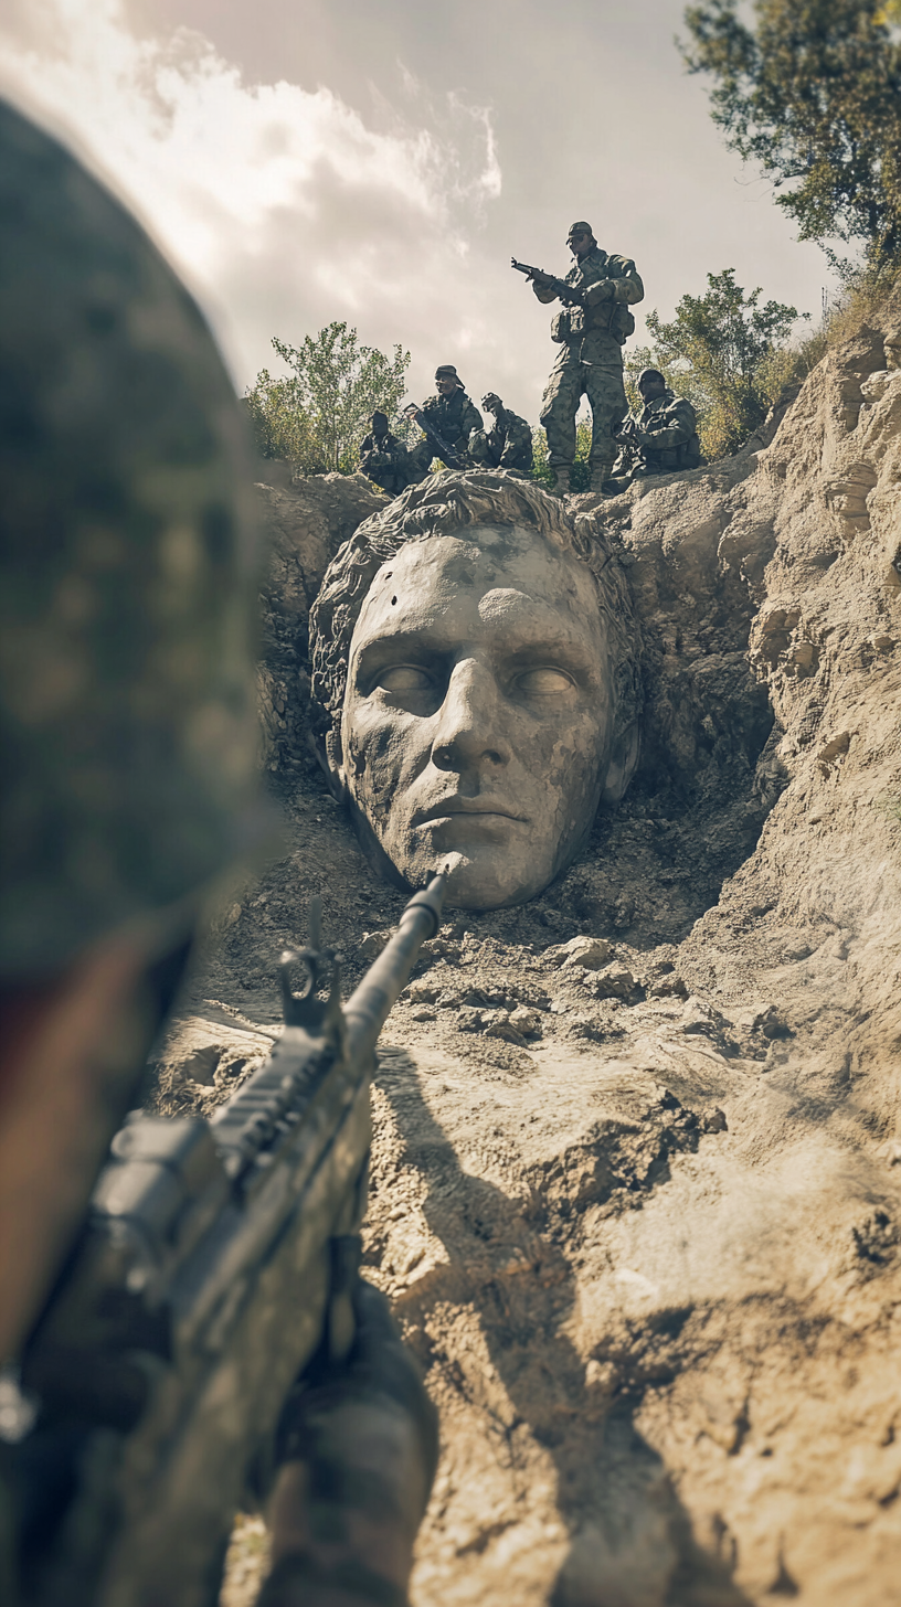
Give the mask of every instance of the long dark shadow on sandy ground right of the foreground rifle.
[[[523, 1213], [521, 1202], [462, 1170], [404, 1051], [380, 1051], [376, 1085], [401, 1135], [415, 1135], [405, 1162], [426, 1176], [422, 1208], [447, 1253], [423, 1292], [404, 1302], [404, 1315], [420, 1305], [428, 1323], [439, 1300], [475, 1306], [515, 1414], [513, 1422], [496, 1419], [507, 1438], [502, 1454], [513, 1469], [515, 1429], [526, 1424], [555, 1462], [570, 1551], [549, 1607], [750, 1607], [732, 1580], [729, 1538], [721, 1556], [695, 1543], [666, 1467], [636, 1429], [639, 1388], [599, 1395], [586, 1380], [586, 1361], [563, 1332], [574, 1278], [542, 1231], [541, 1199]], [[510, 1276], [516, 1260], [521, 1273]], [[449, 1360], [433, 1347], [433, 1361]]]

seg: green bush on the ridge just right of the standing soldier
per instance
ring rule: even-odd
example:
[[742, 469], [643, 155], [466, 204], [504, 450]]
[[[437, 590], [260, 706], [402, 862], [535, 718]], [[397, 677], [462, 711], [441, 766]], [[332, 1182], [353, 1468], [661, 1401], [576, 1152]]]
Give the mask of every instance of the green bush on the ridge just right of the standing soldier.
[[650, 312], [653, 346], [634, 349], [626, 363], [629, 402], [640, 407], [636, 379], [642, 368], [660, 368], [677, 395], [698, 413], [706, 458], [737, 452], [763, 424], [790, 360], [780, 360], [796, 307], [769, 301], [761, 291], [735, 284], [735, 268], [708, 273], [705, 296], [682, 296], [664, 323]]

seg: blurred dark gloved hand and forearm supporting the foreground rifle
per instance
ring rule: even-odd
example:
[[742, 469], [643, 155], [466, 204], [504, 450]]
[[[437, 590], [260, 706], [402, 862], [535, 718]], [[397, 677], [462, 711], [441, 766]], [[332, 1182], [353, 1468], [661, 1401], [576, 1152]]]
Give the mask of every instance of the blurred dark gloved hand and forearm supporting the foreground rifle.
[[438, 1413], [385, 1295], [359, 1282], [343, 1368], [311, 1364], [278, 1425], [272, 1573], [257, 1607], [405, 1607]]

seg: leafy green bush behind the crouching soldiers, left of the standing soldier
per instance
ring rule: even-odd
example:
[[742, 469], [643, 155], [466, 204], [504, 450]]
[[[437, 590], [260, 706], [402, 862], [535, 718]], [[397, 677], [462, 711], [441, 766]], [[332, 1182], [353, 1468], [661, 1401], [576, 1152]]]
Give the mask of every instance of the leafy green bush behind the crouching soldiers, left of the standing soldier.
[[291, 370], [282, 378], [264, 368], [246, 394], [257, 450], [264, 458], [286, 458], [302, 474], [352, 474], [359, 444], [375, 408], [388, 415], [391, 429], [407, 434], [401, 399], [410, 354], [399, 346], [385, 357], [360, 346], [357, 331], [330, 323], [302, 346], [274, 339], [282, 362]]

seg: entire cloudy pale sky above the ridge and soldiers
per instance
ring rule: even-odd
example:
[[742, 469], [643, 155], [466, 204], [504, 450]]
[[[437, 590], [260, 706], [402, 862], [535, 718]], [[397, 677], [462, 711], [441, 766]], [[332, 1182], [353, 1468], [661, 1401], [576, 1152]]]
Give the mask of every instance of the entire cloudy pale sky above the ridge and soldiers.
[[565, 272], [576, 217], [636, 259], [636, 313], [734, 267], [819, 317], [825, 260], [724, 149], [682, 8], [3, 0], [0, 85], [138, 209], [238, 389], [343, 318], [412, 352], [412, 397], [452, 362], [534, 423], [549, 315], [510, 256]]

